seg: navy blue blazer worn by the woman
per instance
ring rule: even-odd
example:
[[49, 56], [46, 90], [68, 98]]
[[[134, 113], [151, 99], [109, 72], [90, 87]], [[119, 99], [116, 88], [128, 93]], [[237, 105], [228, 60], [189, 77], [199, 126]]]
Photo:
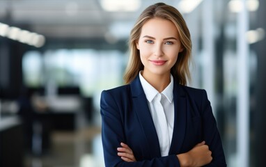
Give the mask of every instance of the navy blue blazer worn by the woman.
[[[175, 119], [169, 156], [161, 157], [159, 140], [139, 76], [131, 84], [102, 91], [102, 145], [105, 166], [180, 166], [176, 154], [185, 153], [201, 141], [212, 151], [207, 166], [226, 166], [221, 138], [205, 90], [181, 86], [174, 81]], [[126, 143], [136, 162], [118, 157], [117, 148]]]

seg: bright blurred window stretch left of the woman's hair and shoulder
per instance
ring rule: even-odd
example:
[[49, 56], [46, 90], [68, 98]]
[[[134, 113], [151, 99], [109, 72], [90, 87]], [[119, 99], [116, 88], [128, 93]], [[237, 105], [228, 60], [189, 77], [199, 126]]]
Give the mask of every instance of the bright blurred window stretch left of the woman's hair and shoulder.
[[123, 84], [123, 53], [93, 49], [29, 51], [23, 58], [27, 86], [77, 86], [85, 96]]

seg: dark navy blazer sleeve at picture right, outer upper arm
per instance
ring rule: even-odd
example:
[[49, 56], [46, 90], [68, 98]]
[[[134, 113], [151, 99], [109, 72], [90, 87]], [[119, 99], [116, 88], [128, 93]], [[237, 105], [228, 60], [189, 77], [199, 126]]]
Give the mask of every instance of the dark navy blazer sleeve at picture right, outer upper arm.
[[221, 144], [221, 137], [217, 129], [217, 122], [213, 116], [212, 107], [205, 90], [202, 95], [203, 139], [212, 151], [212, 162], [206, 166], [224, 167], [226, 166], [226, 159]]

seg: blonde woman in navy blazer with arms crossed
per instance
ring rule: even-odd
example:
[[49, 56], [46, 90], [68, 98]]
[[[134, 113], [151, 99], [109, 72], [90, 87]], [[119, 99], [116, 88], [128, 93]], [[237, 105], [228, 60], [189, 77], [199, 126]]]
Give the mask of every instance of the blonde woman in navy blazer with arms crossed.
[[125, 86], [102, 92], [106, 166], [226, 166], [207, 94], [186, 86], [190, 58], [178, 10], [146, 8], [130, 33]]

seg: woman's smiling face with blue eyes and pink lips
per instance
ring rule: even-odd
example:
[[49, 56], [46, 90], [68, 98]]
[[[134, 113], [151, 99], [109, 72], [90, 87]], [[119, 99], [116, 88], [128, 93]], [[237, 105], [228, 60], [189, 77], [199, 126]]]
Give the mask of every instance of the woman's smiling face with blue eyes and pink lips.
[[144, 65], [143, 75], [147, 76], [169, 75], [178, 53], [182, 51], [175, 24], [160, 18], [150, 19], [143, 24], [136, 48]]

